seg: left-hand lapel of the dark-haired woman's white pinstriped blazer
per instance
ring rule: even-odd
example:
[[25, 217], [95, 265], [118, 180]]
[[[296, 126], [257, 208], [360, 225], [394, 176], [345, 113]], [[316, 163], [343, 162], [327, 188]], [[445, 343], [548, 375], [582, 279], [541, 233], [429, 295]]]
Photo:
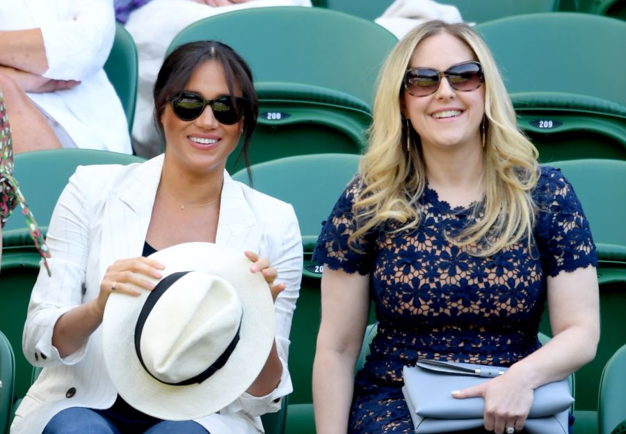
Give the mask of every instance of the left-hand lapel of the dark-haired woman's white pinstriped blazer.
[[102, 275], [118, 259], [141, 256], [162, 168], [161, 154], [132, 169], [104, 204]]

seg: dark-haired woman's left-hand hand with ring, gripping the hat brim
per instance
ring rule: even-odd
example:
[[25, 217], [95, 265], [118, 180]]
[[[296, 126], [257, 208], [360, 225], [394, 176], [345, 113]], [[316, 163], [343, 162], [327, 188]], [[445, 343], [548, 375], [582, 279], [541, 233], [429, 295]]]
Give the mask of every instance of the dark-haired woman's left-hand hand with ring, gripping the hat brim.
[[102, 312], [104, 312], [106, 300], [109, 300], [109, 295], [113, 291], [129, 296], [141, 294], [137, 287], [152, 291], [156, 284], [147, 280], [146, 276], [160, 279], [163, 277], [160, 271], [163, 268], [165, 268], [163, 264], [147, 257], [119, 259], [113, 262], [109, 268], [106, 268], [106, 273], [104, 273], [104, 278], [100, 284], [98, 304], [102, 308]]

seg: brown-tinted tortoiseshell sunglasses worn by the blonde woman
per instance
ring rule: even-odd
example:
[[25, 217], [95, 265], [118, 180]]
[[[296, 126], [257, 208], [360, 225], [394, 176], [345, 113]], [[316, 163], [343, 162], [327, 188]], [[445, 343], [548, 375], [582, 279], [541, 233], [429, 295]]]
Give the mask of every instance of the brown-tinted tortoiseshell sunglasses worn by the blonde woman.
[[452, 65], [441, 72], [433, 68], [414, 67], [404, 74], [404, 88], [414, 97], [426, 97], [437, 92], [442, 77], [448, 79], [451, 88], [460, 92], [470, 92], [481, 87], [485, 76], [478, 62], [463, 62]]

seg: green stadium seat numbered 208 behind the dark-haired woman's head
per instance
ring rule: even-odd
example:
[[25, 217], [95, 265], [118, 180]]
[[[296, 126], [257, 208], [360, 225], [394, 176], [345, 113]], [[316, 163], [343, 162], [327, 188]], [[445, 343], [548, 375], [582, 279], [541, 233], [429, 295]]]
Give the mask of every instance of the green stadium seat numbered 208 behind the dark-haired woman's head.
[[[250, 35], [259, 43], [251, 44]], [[321, 152], [362, 152], [374, 82], [396, 38], [358, 17], [323, 8], [236, 10], [182, 30], [168, 51], [220, 40], [250, 64], [259, 122], [250, 161]], [[356, 43], [358, 42], [358, 43]], [[234, 152], [227, 169], [243, 168]]]

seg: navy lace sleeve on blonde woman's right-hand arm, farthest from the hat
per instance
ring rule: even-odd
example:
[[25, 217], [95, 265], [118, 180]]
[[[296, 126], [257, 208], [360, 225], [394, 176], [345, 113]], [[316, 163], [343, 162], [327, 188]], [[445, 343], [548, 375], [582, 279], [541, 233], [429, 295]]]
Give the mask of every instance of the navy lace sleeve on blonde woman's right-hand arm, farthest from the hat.
[[536, 241], [545, 275], [597, 266], [589, 222], [561, 170], [543, 167], [534, 195], [538, 205]]

